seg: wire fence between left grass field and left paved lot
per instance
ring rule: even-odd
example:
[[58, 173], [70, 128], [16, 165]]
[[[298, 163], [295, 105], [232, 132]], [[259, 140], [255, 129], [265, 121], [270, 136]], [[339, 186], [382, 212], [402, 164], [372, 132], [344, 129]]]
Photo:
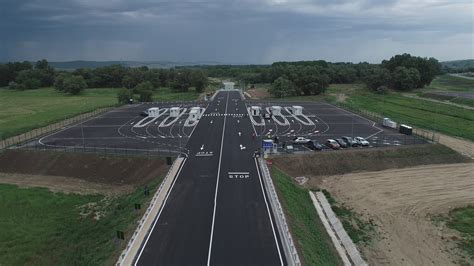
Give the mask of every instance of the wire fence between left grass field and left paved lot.
[[41, 136], [46, 135], [46, 134], [50, 134], [50, 133], [55, 132], [55, 131], [60, 130], [60, 129], [64, 129], [67, 126], [77, 124], [77, 123], [80, 123], [80, 122], [84, 122], [84, 121], [86, 121], [86, 120], [88, 120], [92, 117], [98, 116], [98, 115], [103, 114], [105, 112], [108, 112], [112, 109], [114, 109], [114, 107], [106, 107], [106, 108], [97, 109], [93, 112], [80, 114], [80, 115], [77, 115], [75, 117], [68, 118], [68, 119], [62, 120], [62, 121], [54, 123], [54, 124], [50, 124], [50, 125], [47, 125], [47, 126], [44, 126], [44, 127], [33, 129], [31, 131], [28, 131], [26, 133], [23, 133], [23, 134], [20, 134], [20, 135], [11, 137], [11, 138], [0, 140], [0, 150], [6, 149], [6, 148], [8, 148], [10, 146], [13, 146], [13, 145], [19, 145], [19, 144], [26, 143], [26, 142], [28, 142], [32, 139], [41, 137]]

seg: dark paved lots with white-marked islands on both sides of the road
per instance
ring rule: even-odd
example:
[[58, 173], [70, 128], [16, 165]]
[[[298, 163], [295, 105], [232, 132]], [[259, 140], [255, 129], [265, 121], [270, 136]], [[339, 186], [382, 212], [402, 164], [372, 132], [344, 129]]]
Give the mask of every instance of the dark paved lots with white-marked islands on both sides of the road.
[[[231, 103], [234, 104], [235, 103]], [[398, 133], [396, 130], [382, 127], [380, 123], [368, 120], [357, 114], [322, 102], [247, 102], [247, 110], [222, 114], [217, 112], [219, 103], [213, 105], [216, 110], [208, 110], [207, 102], [157, 102], [124, 106], [80, 124], [65, 128], [37, 140], [34, 145], [43, 147], [98, 147], [106, 149], [137, 149], [157, 152], [187, 154], [186, 144], [196, 124], [188, 120], [193, 107], [202, 108], [202, 117], [211, 123], [221, 116], [235, 118], [237, 123], [249, 116], [255, 129], [257, 140], [278, 137], [280, 146], [290, 144], [296, 136], [324, 143], [328, 138], [342, 136], [361, 136], [370, 142], [370, 146], [398, 146], [424, 143], [413, 136]], [[272, 106], [281, 107], [281, 116], [263, 119], [252, 116], [251, 106], [261, 108], [261, 115], [270, 112]], [[292, 106], [301, 106], [302, 114], [293, 115]], [[150, 107], [159, 107], [161, 115], [147, 118], [140, 115]], [[179, 116], [170, 117], [170, 108], [179, 107]], [[242, 109], [242, 107], [241, 107]], [[295, 150], [307, 151], [302, 145]]]

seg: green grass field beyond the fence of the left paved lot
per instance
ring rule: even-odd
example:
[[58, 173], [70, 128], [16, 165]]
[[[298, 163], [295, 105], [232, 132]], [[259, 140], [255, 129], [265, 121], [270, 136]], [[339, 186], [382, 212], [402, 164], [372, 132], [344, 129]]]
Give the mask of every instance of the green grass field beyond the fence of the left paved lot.
[[[169, 88], [154, 91], [153, 100], [195, 100], [198, 93], [190, 90], [176, 93]], [[117, 104], [117, 89], [86, 89], [71, 96], [53, 88], [16, 91], [0, 89], [0, 139], [18, 135], [100, 107]]]

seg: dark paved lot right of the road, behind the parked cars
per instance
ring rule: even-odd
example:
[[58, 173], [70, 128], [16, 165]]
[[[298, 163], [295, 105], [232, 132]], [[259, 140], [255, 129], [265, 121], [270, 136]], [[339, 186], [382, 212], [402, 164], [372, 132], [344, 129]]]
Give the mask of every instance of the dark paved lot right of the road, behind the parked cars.
[[[280, 146], [289, 144], [294, 137], [305, 137], [311, 140], [325, 143], [329, 138], [341, 138], [342, 136], [363, 137], [367, 139], [372, 147], [399, 146], [409, 144], [425, 143], [414, 136], [407, 136], [395, 129], [382, 127], [381, 121], [371, 121], [352, 112], [346, 111], [334, 105], [322, 102], [292, 102], [290, 103], [268, 103], [252, 102], [247, 104], [261, 108], [263, 115], [268, 113], [271, 106], [282, 107], [282, 117], [286, 118], [287, 124], [279, 123], [279, 120], [264, 119], [264, 124], [254, 123], [259, 138], [274, 138], [278, 136]], [[297, 119], [291, 114], [291, 106], [303, 107], [303, 116], [307, 120]], [[282, 119], [283, 119], [282, 118]], [[302, 121], [304, 122], [302, 122]], [[306, 150], [302, 145], [296, 145], [296, 150]]]

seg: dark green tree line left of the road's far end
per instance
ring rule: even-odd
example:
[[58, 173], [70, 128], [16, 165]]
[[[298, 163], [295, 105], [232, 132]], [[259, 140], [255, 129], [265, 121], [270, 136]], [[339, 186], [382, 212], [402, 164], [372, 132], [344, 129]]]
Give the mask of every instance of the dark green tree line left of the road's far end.
[[27, 61], [0, 64], [0, 86], [18, 90], [54, 86], [69, 94], [78, 94], [85, 88], [125, 88], [131, 93], [146, 91], [144, 94], [148, 94], [159, 87], [170, 87], [177, 92], [194, 87], [202, 92], [207, 86], [207, 75], [201, 69], [148, 69], [122, 65], [63, 71], [54, 69], [43, 59], [34, 66]]

